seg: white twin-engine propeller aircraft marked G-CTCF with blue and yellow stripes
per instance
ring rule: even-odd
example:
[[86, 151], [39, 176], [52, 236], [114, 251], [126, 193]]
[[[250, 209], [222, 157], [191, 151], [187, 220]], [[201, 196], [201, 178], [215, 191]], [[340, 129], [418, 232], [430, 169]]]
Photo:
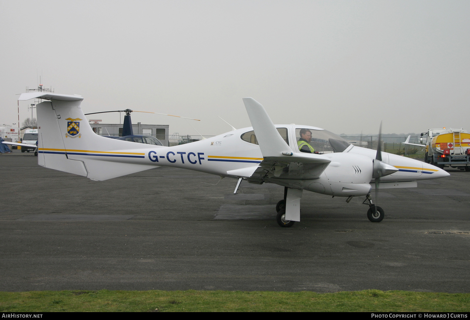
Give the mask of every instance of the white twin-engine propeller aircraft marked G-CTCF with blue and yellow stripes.
[[242, 179], [276, 183], [285, 187], [284, 199], [276, 206], [282, 227], [300, 221], [303, 190], [348, 197], [347, 202], [365, 196], [368, 219], [379, 222], [384, 211], [372, 203], [372, 184], [379, 189], [411, 188], [418, 180], [449, 175], [422, 161], [381, 152], [380, 147], [376, 152], [353, 146], [317, 127], [274, 125], [252, 98], [243, 98], [252, 128], [172, 147], [98, 136], [85, 118], [79, 95], [31, 92], [19, 100], [34, 98], [49, 100], [36, 106], [39, 165], [98, 181], [160, 166], [186, 168], [238, 178], [234, 193]]

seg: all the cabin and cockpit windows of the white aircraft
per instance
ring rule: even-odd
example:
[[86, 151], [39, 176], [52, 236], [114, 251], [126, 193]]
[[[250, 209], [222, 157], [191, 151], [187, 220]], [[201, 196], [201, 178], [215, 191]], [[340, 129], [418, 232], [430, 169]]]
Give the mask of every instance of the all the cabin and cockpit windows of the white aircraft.
[[[300, 144], [298, 141], [300, 139], [300, 130], [304, 129], [302, 132], [304, 133], [305, 131], [310, 131], [312, 133], [312, 138], [310, 142], [307, 142], [309, 145], [312, 146], [314, 149], [315, 153], [333, 153], [333, 152], [343, 152], [346, 150], [346, 148], [350, 145], [349, 142], [347, 142], [345, 139], [342, 137], [328, 131], [328, 130], [323, 130], [319, 128], [314, 127], [295, 127], [295, 128], [283, 128], [279, 127], [276, 128], [279, 134], [281, 135], [282, 139], [288, 144], [289, 143], [289, 136], [292, 134], [295, 134], [295, 147], [291, 145], [291, 148], [298, 152], [298, 145]], [[295, 131], [290, 132], [290, 130]], [[241, 136], [242, 140], [258, 145], [258, 140], [256, 139], [255, 132], [253, 130], [248, 131], [243, 133]], [[305, 137], [305, 135], [304, 135]], [[294, 142], [292, 140], [292, 142]]]

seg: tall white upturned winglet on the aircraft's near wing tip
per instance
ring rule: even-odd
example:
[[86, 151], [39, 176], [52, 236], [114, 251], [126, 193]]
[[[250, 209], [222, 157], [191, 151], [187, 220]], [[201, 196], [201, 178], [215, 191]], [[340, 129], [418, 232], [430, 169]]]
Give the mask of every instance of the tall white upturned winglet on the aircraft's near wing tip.
[[265, 108], [253, 98], [243, 98], [243, 103], [263, 157], [282, 157], [282, 152], [292, 152], [269, 118]]

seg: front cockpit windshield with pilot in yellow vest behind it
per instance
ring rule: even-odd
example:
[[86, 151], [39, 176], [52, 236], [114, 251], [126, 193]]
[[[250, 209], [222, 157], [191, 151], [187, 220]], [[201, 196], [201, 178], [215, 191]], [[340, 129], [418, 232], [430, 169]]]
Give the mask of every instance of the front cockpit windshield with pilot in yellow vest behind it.
[[350, 145], [345, 139], [328, 130], [296, 128], [295, 135], [300, 152], [343, 152]]

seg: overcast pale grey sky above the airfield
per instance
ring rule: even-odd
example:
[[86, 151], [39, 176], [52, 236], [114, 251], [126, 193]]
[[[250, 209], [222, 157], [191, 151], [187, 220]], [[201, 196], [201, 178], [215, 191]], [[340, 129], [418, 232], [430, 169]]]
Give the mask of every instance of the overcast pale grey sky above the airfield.
[[230, 130], [218, 115], [250, 126], [243, 97], [274, 123], [337, 134], [375, 133], [381, 120], [384, 133], [470, 130], [469, 17], [470, 1], [0, 0], [0, 124], [17, 122], [15, 94], [38, 73], [82, 95], [85, 113], [194, 117], [203, 135]]

